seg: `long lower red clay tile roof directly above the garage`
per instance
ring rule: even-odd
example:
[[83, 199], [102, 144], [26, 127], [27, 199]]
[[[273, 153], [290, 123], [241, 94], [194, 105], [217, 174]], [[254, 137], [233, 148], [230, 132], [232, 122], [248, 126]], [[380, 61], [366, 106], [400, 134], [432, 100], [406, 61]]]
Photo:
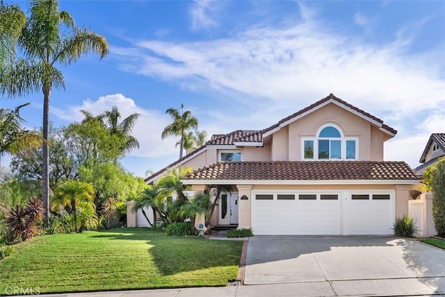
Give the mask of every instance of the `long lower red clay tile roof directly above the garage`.
[[218, 162], [184, 180], [418, 180], [405, 162]]

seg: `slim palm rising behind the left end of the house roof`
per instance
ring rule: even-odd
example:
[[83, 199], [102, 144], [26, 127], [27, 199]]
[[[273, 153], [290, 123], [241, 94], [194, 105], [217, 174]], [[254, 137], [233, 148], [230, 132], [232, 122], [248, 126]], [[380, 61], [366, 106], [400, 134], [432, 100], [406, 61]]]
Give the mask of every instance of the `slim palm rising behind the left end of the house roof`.
[[191, 128], [197, 128], [197, 119], [193, 117], [192, 113], [189, 110], [184, 112], [184, 104], [181, 103], [181, 112], [176, 108], [168, 108], [165, 113], [170, 114], [173, 122], [172, 124], [168, 124], [165, 126], [162, 131], [161, 138], [165, 139], [169, 136], [181, 136], [179, 140], [179, 158], [182, 158], [182, 153], [184, 153], [184, 135], [186, 135], [186, 131]]

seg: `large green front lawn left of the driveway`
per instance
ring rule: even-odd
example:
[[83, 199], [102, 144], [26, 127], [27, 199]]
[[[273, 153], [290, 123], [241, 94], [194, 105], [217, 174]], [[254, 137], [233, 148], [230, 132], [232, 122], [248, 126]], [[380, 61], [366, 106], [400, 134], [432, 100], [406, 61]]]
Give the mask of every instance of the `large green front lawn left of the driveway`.
[[147, 228], [44, 235], [0, 260], [0, 294], [224, 286], [236, 279], [241, 248]]

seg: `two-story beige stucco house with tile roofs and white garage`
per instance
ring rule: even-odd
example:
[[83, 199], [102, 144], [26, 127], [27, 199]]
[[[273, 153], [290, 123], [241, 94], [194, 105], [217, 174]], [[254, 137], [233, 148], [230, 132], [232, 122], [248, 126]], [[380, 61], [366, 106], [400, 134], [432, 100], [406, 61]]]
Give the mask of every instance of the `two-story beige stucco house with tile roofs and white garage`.
[[[383, 161], [397, 131], [330, 94], [264, 130], [213, 135], [149, 176], [192, 167], [195, 192], [225, 185], [212, 226], [255, 235], [391, 235], [419, 179], [405, 162]], [[213, 191], [214, 192], [214, 191]]]

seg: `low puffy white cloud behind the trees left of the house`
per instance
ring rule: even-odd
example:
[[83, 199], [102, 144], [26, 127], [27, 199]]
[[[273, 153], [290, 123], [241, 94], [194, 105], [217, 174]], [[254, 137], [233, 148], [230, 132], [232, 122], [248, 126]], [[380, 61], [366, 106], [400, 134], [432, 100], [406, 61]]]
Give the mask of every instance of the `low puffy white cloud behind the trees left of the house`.
[[83, 101], [81, 105], [70, 106], [67, 110], [51, 108], [51, 112], [60, 119], [81, 121], [83, 114], [81, 114], [80, 110], [87, 110], [92, 114], [100, 114], [105, 110], [111, 110], [113, 105], [118, 107], [121, 114], [121, 121], [135, 112], [140, 114], [132, 133], [132, 135], [138, 139], [140, 148], [139, 150], [131, 151], [129, 155], [160, 158], [172, 154], [179, 154], [175, 148], [175, 137], [168, 137], [167, 139], [161, 140], [161, 133], [163, 128], [170, 124], [170, 117], [156, 110], [140, 108], [133, 99], [127, 98], [122, 94], [101, 96], [95, 101], [86, 100]]

